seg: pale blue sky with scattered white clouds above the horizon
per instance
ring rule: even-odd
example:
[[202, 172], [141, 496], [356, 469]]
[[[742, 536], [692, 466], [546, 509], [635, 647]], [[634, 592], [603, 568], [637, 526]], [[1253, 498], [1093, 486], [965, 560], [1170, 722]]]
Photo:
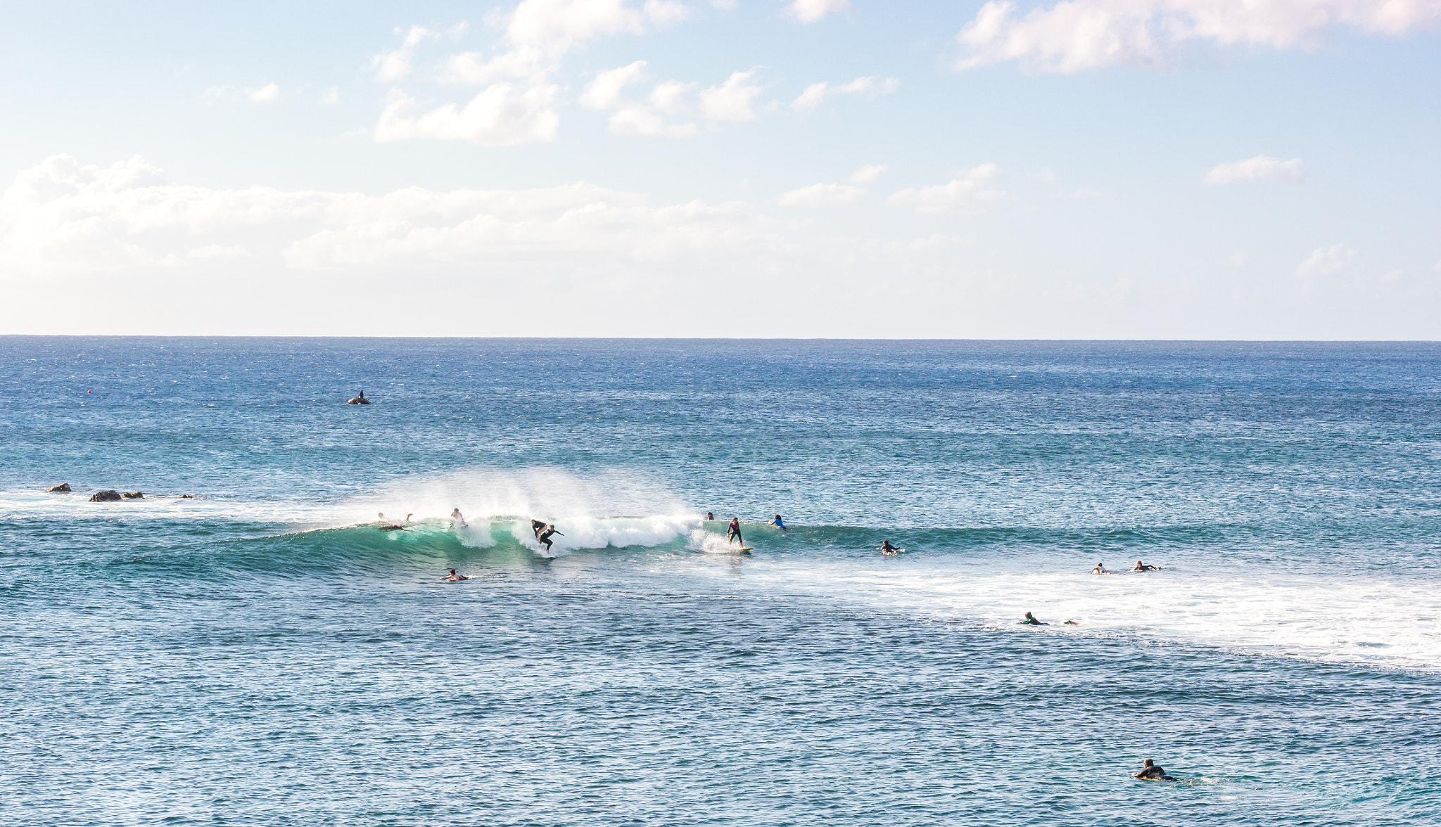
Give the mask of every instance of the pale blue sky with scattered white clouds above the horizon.
[[0, 72], [0, 334], [1441, 339], [1441, 0], [10, 0]]

